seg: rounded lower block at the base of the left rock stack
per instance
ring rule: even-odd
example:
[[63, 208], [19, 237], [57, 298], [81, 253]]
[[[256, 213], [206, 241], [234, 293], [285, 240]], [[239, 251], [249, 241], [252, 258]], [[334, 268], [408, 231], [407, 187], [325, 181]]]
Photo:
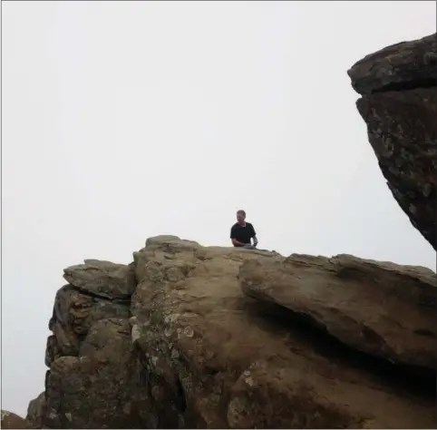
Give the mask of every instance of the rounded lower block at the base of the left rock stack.
[[46, 380], [44, 424], [51, 428], [153, 428], [147, 377], [126, 319], [103, 319], [79, 357], [57, 358]]

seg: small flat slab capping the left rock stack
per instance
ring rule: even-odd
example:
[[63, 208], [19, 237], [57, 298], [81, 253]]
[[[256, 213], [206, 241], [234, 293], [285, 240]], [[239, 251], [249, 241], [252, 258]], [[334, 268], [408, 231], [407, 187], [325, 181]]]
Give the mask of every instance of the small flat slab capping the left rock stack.
[[99, 259], [85, 259], [63, 269], [63, 278], [85, 293], [102, 298], [129, 298], [135, 289], [133, 267]]

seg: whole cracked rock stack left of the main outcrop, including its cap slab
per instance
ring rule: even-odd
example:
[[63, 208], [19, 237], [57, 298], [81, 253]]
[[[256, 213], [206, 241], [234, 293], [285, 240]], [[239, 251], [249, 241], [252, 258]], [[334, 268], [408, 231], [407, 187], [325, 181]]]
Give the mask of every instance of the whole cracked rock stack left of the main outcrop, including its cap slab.
[[28, 419], [48, 428], [153, 427], [147, 378], [131, 344], [132, 266], [88, 259], [64, 269], [54, 300], [44, 396]]

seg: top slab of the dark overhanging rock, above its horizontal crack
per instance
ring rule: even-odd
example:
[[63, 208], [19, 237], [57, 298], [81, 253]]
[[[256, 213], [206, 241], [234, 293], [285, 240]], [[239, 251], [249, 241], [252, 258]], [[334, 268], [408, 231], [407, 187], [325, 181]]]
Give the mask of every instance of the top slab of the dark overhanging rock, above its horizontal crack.
[[347, 71], [357, 93], [426, 88], [437, 83], [437, 38], [422, 39], [386, 46], [366, 55]]

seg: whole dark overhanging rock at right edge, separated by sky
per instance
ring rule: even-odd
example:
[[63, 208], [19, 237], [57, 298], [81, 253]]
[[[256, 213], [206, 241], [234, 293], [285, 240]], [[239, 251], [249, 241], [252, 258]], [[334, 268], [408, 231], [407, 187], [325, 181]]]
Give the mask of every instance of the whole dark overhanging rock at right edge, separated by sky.
[[367, 55], [348, 74], [394, 199], [437, 249], [436, 34]]

